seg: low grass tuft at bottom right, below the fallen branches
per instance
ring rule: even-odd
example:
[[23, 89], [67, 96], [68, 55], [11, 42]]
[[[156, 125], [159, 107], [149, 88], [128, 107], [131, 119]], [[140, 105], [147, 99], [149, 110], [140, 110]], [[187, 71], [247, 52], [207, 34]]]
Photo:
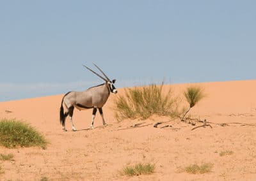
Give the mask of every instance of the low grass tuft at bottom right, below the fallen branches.
[[200, 166], [198, 166], [198, 164], [191, 164], [189, 166], [186, 166], [184, 168], [184, 171], [186, 171], [187, 173], [193, 173], [193, 174], [196, 174], [196, 173], [209, 173], [211, 172], [213, 168], [213, 164], [212, 163], [204, 163]]

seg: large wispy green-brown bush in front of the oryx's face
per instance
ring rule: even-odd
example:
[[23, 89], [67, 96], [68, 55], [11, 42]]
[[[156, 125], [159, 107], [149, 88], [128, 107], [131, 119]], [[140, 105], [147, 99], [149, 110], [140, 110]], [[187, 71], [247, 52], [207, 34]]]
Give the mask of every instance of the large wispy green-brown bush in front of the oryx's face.
[[147, 119], [151, 115], [175, 115], [177, 99], [172, 90], [163, 93], [163, 83], [146, 87], [134, 87], [125, 90], [124, 96], [115, 101], [116, 119]]

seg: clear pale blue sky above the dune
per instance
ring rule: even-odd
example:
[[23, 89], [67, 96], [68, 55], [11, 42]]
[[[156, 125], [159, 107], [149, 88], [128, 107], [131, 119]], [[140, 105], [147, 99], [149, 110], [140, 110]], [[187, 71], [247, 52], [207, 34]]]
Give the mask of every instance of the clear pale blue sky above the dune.
[[0, 101], [256, 79], [256, 1], [0, 1]]

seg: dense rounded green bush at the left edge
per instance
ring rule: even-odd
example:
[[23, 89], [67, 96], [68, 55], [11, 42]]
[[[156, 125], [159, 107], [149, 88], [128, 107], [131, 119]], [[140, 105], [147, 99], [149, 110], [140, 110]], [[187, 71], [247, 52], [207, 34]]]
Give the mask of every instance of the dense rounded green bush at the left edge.
[[45, 148], [47, 141], [34, 127], [19, 120], [0, 120], [0, 145], [7, 148], [33, 147]]

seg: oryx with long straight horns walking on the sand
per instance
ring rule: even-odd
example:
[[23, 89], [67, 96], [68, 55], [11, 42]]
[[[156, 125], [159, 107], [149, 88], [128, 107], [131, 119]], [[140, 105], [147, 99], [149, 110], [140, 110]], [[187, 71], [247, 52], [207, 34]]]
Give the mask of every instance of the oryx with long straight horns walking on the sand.
[[[61, 101], [61, 107], [60, 107], [60, 122], [63, 126], [63, 130], [67, 131], [65, 128], [65, 120], [66, 117], [69, 115], [70, 121], [72, 122], [72, 130], [76, 131], [76, 128], [73, 124], [72, 121], [72, 115], [74, 112], [74, 108], [77, 108], [78, 110], [83, 110], [83, 109], [90, 109], [93, 108], [92, 112], [92, 124], [91, 128], [93, 129], [93, 121], [97, 112], [97, 109], [99, 109], [100, 115], [102, 117], [102, 123], [103, 125], [106, 125], [106, 122], [103, 117], [103, 112], [102, 112], [102, 106], [105, 105], [106, 101], [108, 100], [110, 92], [117, 93], [117, 90], [114, 86], [114, 83], [116, 80], [109, 80], [108, 76], [96, 65], [93, 64], [99, 71], [104, 75], [104, 77], [100, 76], [98, 73], [93, 71], [92, 69], [88, 68], [87, 66], [84, 66], [88, 70], [92, 71], [95, 75], [99, 76], [102, 78], [105, 82], [94, 86], [90, 87], [86, 91], [83, 92], [76, 92], [76, 91], [71, 91], [65, 94], [63, 96], [62, 101]], [[63, 109], [63, 103], [65, 105], [65, 112]]]

